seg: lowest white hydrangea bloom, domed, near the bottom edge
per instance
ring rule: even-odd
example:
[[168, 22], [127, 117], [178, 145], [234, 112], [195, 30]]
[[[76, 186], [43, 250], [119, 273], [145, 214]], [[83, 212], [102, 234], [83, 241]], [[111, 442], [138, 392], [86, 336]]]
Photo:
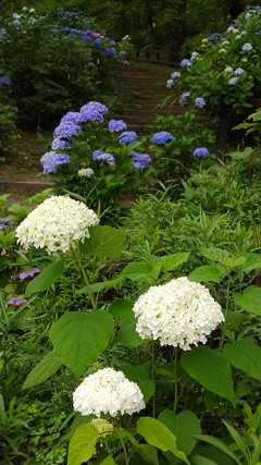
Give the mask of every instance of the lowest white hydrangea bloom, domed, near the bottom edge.
[[129, 381], [122, 371], [103, 368], [84, 379], [73, 393], [75, 412], [82, 415], [119, 413], [132, 415], [145, 408], [139, 387]]

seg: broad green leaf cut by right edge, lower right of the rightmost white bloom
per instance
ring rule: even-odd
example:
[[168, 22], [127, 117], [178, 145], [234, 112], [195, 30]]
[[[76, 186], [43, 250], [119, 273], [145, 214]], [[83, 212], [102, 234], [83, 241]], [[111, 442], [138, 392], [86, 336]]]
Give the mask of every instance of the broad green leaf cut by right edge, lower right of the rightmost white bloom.
[[223, 353], [234, 367], [261, 381], [261, 348], [253, 338], [240, 339], [235, 345], [225, 344]]

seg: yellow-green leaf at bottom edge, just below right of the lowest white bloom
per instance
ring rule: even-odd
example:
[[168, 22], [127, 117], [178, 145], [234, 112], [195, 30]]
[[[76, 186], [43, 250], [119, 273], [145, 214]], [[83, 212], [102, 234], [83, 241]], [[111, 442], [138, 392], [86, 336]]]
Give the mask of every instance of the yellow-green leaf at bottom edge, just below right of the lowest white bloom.
[[185, 453], [176, 448], [176, 437], [161, 421], [150, 417], [141, 417], [137, 421], [137, 432], [145, 438], [148, 444], [164, 452], [171, 451], [174, 456], [189, 465]]

